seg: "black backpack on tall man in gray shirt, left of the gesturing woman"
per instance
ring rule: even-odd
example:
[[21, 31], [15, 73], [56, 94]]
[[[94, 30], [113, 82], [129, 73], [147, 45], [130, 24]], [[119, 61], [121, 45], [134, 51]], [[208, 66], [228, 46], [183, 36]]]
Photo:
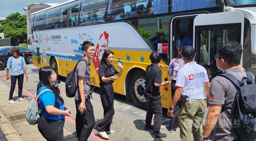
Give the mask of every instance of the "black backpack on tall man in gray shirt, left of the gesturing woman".
[[[80, 61], [84, 61], [87, 64], [87, 62], [82, 58], [78, 60], [78, 62], [76, 63], [76, 66]], [[77, 85], [78, 80], [76, 82], [76, 66], [74, 70], [68, 73], [65, 81], [66, 95], [67, 97], [70, 97], [70, 98], [75, 97], [76, 91], [78, 89], [78, 85]]]

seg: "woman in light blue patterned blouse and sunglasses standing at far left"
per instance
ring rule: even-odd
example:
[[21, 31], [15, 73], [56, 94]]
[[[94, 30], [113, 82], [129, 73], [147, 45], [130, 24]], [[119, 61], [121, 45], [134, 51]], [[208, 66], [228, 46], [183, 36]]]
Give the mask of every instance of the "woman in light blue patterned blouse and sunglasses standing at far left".
[[12, 55], [8, 58], [7, 67], [6, 67], [6, 79], [9, 80], [9, 71], [11, 70], [11, 89], [9, 94], [8, 103], [15, 104], [15, 101], [12, 100], [12, 95], [15, 89], [16, 81], [18, 79], [18, 88], [19, 88], [19, 98], [18, 100], [24, 101], [21, 98], [24, 72], [25, 76], [28, 79], [26, 62], [23, 57], [20, 55], [20, 49], [17, 47], [12, 48]]

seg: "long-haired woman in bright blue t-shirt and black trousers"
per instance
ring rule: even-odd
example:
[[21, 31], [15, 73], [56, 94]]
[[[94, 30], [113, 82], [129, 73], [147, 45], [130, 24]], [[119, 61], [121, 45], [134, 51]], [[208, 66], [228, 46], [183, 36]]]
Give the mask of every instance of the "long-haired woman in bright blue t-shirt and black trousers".
[[44, 89], [50, 89], [53, 93], [44, 92], [38, 99], [38, 108], [42, 114], [38, 121], [38, 130], [48, 141], [64, 141], [65, 116], [71, 116], [69, 113], [71, 109], [64, 107], [64, 100], [59, 94], [60, 84], [59, 90], [52, 87], [57, 80], [55, 69], [49, 66], [40, 68], [39, 80], [37, 94]]

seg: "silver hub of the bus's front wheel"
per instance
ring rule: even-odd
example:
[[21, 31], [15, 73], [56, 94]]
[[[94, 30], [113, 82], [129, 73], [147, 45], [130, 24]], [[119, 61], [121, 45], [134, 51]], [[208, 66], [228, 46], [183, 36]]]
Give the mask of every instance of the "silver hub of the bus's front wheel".
[[145, 97], [143, 95], [145, 85], [146, 85], [146, 80], [142, 79], [142, 78], [136, 80], [135, 85], [134, 85], [135, 95], [136, 95], [137, 99], [142, 102], [146, 102]]

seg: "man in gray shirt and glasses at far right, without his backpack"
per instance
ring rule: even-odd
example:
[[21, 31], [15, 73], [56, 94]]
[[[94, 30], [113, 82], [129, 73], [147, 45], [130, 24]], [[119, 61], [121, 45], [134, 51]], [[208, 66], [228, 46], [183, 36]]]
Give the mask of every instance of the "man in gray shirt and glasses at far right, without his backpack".
[[[234, 75], [242, 80], [247, 77], [246, 72], [241, 70], [239, 65], [242, 57], [242, 46], [237, 42], [226, 42], [217, 49], [216, 59], [218, 69]], [[253, 78], [254, 79], [254, 78]], [[235, 85], [227, 78], [216, 76], [212, 79], [210, 87], [210, 108], [206, 116], [204, 131], [201, 135], [201, 141], [206, 140], [213, 130], [213, 140], [240, 140], [231, 128], [231, 122], [228, 117], [221, 112], [224, 108], [228, 114], [233, 117], [236, 108]]]

